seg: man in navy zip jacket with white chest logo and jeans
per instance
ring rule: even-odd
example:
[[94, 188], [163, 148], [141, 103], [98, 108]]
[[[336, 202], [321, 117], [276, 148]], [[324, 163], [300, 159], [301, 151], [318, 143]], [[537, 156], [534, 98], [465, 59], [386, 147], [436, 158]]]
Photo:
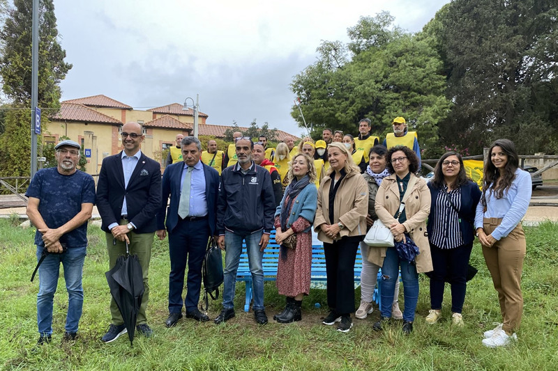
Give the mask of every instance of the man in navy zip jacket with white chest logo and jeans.
[[242, 242], [246, 241], [250, 273], [254, 288], [254, 317], [267, 323], [264, 311], [264, 270], [262, 258], [273, 229], [275, 196], [269, 171], [252, 161], [254, 143], [248, 137], [236, 141], [238, 164], [221, 173], [217, 202], [218, 245], [225, 254], [223, 310], [215, 323], [234, 317], [234, 288], [239, 268]]

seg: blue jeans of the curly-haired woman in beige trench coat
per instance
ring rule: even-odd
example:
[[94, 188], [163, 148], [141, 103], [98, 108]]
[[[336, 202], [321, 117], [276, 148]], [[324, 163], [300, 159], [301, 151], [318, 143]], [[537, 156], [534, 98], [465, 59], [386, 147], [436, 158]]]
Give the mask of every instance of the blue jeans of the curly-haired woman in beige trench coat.
[[391, 317], [391, 305], [393, 304], [393, 291], [398, 284], [399, 267], [401, 266], [401, 280], [403, 281], [403, 297], [405, 298], [405, 310], [403, 320], [413, 322], [414, 311], [418, 301], [418, 274], [416, 266], [405, 260], [400, 260], [395, 247], [389, 247], [382, 266], [382, 317]]

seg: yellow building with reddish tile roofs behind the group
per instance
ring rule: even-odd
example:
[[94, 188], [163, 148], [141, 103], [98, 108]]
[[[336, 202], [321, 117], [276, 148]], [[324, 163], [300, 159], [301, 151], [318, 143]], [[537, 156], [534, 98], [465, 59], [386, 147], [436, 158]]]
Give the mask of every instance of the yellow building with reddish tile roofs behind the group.
[[[168, 148], [175, 145], [176, 135], [188, 136], [193, 132], [194, 111], [182, 108], [182, 104], [172, 103], [143, 111], [106, 95], [66, 100], [61, 102], [59, 112], [49, 116], [50, 123], [43, 127], [43, 139], [58, 143], [61, 136], [67, 136], [81, 143], [88, 162], [86, 171], [98, 174], [103, 158], [123, 149], [121, 127], [131, 121], [144, 128], [142, 152], [159, 161], [163, 168]], [[199, 135], [223, 138], [230, 127], [206, 124], [208, 117], [206, 113], [198, 112]], [[279, 141], [285, 136], [293, 136], [282, 130], [277, 133]]]

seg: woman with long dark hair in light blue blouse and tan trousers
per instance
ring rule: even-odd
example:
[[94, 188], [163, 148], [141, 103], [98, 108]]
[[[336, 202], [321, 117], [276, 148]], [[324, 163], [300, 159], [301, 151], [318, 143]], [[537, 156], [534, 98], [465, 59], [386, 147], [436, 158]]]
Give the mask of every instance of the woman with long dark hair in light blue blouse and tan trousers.
[[521, 324], [521, 271], [526, 243], [520, 221], [531, 200], [531, 175], [519, 168], [512, 141], [498, 139], [490, 145], [489, 153], [475, 227], [503, 317], [502, 324], [484, 333], [483, 345], [494, 348], [517, 339], [515, 331]]

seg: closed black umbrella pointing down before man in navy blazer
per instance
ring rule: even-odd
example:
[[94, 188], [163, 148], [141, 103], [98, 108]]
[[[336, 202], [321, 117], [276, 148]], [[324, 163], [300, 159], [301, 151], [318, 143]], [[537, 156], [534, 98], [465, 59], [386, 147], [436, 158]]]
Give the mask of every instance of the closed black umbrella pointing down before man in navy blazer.
[[130, 345], [133, 345], [135, 319], [144, 294], [144, 275], [137, 255], [130, 256], [128, 243], [126, 243], [126, 256], [119, 256], [116, 265], [107, 271], [105, 276], [107, 276], [110, 293], [128, 330]]

